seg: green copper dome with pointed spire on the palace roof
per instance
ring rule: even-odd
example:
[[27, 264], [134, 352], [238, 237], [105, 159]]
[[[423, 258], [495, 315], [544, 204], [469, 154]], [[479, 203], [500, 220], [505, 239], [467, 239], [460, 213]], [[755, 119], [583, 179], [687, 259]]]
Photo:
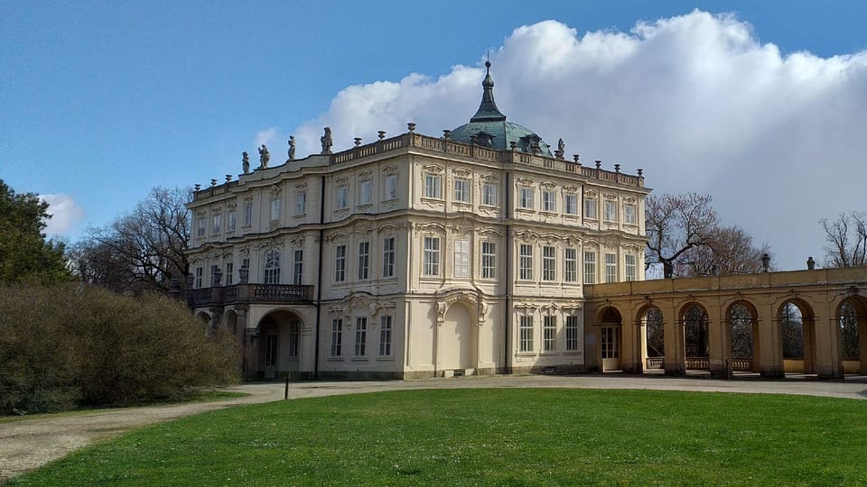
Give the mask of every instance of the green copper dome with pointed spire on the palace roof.
[[452, 141], [471, 143], [474, 137], [476, 145], [499, 151], [510, 150], [511, 142], [515, 142], [520, 151], [550, 157], [551, 149], [541, 137], [523, 125], [508, 122], [506, 115], [499, 111], [494, 102], [494, 80], [490, 78], [490, 61], [485, 62], [485, 68], [488, 72], [481, 82], [484, 91], [479, 110], [472, 116], [469, 124], [452, 130]]

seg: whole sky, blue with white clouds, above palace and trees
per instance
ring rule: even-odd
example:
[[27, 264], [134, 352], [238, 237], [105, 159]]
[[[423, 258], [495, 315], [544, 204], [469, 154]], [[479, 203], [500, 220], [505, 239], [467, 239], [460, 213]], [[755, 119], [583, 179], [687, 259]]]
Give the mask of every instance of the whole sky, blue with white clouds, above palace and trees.
[[303, 157], [326, 124], [335, 149], [463, 124], [490, 51], [510, 119], [710, 192], [796, 269], [821, 261], [818, 217], [867, 209], [847, 186], [867, 175], [864, 21], [855, 1], [5, 2], [0, 179], [51, 195], [74, 241], [154, 186], [238, 174], [257, 142], [294, 133]]

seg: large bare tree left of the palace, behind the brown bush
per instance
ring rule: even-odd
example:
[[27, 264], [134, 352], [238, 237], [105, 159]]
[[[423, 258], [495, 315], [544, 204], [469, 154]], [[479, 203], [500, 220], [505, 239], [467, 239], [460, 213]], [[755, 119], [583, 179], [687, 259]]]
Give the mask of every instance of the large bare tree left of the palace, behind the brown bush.
[[190, 269], [185, 254], [190, 194], [182, 188], [153, 188], [133, 211], [91, 228], [72, 253], [81, 279], [118, 292], [166, 292], [172, 278], [183, 287]]

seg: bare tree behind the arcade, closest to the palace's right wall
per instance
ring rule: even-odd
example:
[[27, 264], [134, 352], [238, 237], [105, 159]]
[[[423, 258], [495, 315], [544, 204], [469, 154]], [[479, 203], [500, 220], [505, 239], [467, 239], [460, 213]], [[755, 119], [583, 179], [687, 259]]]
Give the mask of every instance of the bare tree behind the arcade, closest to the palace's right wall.
[[711, 243], [718, 221], [711, 200], [697, 193], [648, 197], [646, 262], [661, 263], [666, 279], [674, 277], [675, 263], [690, 249]]

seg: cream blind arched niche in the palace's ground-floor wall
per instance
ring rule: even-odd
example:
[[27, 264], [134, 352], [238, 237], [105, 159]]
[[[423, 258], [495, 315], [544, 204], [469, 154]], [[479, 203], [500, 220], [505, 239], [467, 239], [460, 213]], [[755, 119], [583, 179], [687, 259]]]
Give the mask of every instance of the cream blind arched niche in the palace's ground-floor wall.
[[476, 322], [470, 308], [458, 302], [445, 313], [439, 329], [437, 365], [440, 370], [472, 373], [476, 368]]

